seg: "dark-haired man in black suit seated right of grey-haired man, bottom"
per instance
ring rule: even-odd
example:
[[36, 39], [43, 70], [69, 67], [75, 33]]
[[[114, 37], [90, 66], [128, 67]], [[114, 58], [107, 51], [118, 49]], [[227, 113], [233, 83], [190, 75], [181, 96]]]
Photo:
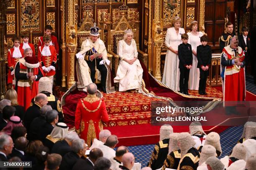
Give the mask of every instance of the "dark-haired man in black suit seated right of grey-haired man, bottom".
[[72, 170], [80, 170], [81, 167], [85, 170], [93, 170], [94, 163], [102, 156], [103, 153], [99, 148], [93, 148], [90, 150], [89, 157], [85, 159], [80, 158], [77, 163], [75, 163]]

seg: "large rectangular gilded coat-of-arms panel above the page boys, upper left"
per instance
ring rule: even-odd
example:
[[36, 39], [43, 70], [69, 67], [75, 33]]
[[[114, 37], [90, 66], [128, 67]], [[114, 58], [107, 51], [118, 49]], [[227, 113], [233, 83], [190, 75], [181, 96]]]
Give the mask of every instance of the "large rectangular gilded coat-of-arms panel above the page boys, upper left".
[[41, 30], [41, 0], [20, 0], [20, 31]]

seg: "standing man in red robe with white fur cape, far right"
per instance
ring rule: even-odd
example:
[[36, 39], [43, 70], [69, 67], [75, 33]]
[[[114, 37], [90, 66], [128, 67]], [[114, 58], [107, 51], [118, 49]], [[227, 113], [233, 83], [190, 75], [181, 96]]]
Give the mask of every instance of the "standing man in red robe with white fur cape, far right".
[[221, 77], [223, 80], [224, 101], [245, 100], [246, 83], [244, 58], [244, 52], [241, 47], [238, 47], [236, 37], [232, 37], [230, 45], [223, 48], [221, 55]]

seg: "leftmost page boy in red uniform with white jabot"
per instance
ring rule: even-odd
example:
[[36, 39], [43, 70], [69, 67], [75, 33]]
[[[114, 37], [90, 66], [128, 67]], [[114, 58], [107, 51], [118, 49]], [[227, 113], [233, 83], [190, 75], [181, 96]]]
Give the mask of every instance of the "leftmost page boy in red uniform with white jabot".
[[17, 35], [13, 36], [13, 48], [8, 49], [7, 61], [8, 61], [8, 89], [14, 88], [15, 80], [14, 80], [14, 68], [16, 63], [20, 58], [23, 57], [24, 50], [20, 47], [20, 37]]

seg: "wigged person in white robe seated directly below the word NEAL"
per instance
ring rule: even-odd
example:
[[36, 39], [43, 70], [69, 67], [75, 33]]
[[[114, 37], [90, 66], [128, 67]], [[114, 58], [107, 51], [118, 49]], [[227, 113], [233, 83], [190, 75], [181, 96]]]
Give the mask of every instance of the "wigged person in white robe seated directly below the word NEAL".
[[[195, 141], [195, 148], [199, 150], [200, 146], [205, 144], [206, 133], [202, 129], [202, 125], [198, 121], [194, 121], [189, 125], [189, 132]], [[201, 147], [202, 148], [202, 147]]]

